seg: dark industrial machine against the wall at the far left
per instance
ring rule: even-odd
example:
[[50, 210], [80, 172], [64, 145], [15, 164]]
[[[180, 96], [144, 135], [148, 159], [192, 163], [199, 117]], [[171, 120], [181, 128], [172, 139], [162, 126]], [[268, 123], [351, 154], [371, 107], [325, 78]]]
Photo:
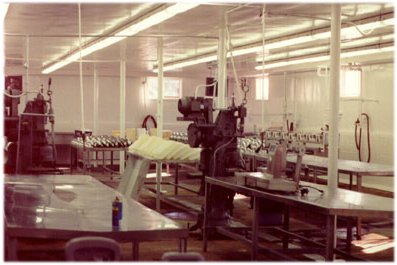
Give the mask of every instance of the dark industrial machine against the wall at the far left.
[[[56, 149], [54, 142], [54, 111], [52, 108], [51, 78], [48, 80], [48, 99], [45, 99], [44, 88], [41, 86], [33, 100], [26, 103], [25, 109], [19, 115], [15, 110], [19, 97], [6, 93], [11, 115], [5, 119], [6, 173], [41, 173], [56, 170]], [[48, 121], [51, 129], [46, 129]], [[14, 128], [14, 129], [12, 129]], [[48, 141], [51, 138], [51, 142]]]

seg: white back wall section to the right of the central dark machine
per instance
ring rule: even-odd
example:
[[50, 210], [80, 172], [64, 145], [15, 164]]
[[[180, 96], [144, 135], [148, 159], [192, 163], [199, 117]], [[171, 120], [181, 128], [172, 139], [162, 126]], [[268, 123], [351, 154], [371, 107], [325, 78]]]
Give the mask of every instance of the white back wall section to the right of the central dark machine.
[[[393, 165], [393, 64], [364, 66], [362, 70], [362, 95], [371, 101], [340, 101], [340, 158], [358, 160], [354, 122], [360, 113], [365, 112], [370, 118], [371, 162]], [[319, 132], [328, 123], [328, 78], [319, 77], [316, 72], [306, 72], [274, 75], [270, 76], [269, 81], [268, 101], [256, 101], [252, 99], [253, 95], [248, 101], [248, 130], [253, 130], [254, 124], [261, 124], [262, 105], [265, 109], [265, 128], [285, 124], [282, 115], [285, 88], [287, 113], [292, 113], [287, 117], [289, 121], [294, 121], [296, 130]], [[254, 93], [253, 80], [250, 84]], [[362, 139], [366, 146], [364, 135]], [[362, 157], [366, 158], [367, 150], [363, 150]], [[390, 177], [365, 177], [363, 183], [364, 186], [386, 190], [393, 190], [394, 186]]]

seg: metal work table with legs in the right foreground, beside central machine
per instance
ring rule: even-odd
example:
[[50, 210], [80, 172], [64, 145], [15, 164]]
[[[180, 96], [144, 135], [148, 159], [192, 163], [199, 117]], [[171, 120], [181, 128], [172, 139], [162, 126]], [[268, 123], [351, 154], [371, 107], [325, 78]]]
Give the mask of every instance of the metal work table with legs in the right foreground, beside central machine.
[[[235, 177], [226, 178], [210, 178], [206, 177], [206, 204], [209, 203], [209, 196], [207, 196], [209, 189], [212, 185], [221, 186], [226, 189], [236, 191], [247, 196], [252, 196], [254, 200], [254, 216], [252, 220], [252, 259], [255, 260], [258, 254], [258, 218], [259, 218], [259, 202], [258, 198], [264, 198], [270, 201], [282, 203], [287, 207], [297, 207], [304, 211], [321, 214], [325, 217], [326, 223], [326, 244], [325, 259], [333, 260], [334, 252], [338, 252], [334, 248], [335, 244], [335, 230], [337, 216], [346, 217], [379, 217], [379, 218], [392, 218], [394, 213], [394, 200], [392, 198], [385, 198], [381, 196], [364, 194], [356, 191], [345, 189], [337, 189], [334, 193], [324, 190], [324, 194], [316, 190], [310, 190], [306, 196], [296, 194], [280, 194], [268, 191], [252, 189], [246, 186], [238, 185]], [[301, 181], [301, 185], [312, 186], [320, 189], [326, 187], [307, 183]], [[203, 224], [203, 249], [207, 250], [207, 207], [204, 211], [204, 224]], [[284, 215], [283, 229], [289, 229], [289, 214]], [[283, 249], [288, 249], [288, 237], [283, 240]]]

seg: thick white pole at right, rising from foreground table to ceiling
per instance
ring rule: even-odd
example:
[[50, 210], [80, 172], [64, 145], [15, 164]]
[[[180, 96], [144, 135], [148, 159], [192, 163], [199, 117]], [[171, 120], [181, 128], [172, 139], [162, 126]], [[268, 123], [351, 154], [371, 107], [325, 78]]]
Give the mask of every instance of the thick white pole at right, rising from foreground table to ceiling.
[[329, 110], [329, 150], [328, 150], [328, 190], [338, 188], [338, 149], [339, 149], [339, 75], [340, 75], [340, 4], [332, 5], [331, 12], [331, 71], [330, 71], [330, 110]]

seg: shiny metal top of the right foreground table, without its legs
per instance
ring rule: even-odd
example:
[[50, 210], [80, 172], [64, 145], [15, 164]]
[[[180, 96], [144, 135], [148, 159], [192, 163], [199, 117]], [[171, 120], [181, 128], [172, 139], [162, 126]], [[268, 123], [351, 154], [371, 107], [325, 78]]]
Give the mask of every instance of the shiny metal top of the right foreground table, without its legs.
[[310, 188], [309, 194], [306, 196], [301, 196], [300, 194], [283, 194], [257, 190], [238, 185], [237, 179], [235, 177], [206, 177], [205, 180], [210, 184], [232, 189], [246, 195], [270, 199], [293, 207], [304, 208], [305, 210], [313, 210], [322, 214], [392, 218], [394, 213], [393, 198], [386, 198], [345, 189], [337, 189], [334, 193], [330, 193], [326, 189], [326, 186], [304, 181], [301, 181], [300, 185], [322, 189], [324, 193], [321, 195], [319, 191]]

